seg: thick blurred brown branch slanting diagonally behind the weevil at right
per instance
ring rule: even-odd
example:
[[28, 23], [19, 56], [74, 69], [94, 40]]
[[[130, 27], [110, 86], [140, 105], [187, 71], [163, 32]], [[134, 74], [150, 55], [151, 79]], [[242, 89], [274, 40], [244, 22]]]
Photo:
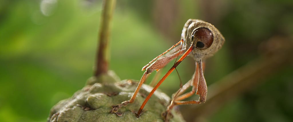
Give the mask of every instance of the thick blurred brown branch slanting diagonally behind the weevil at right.
[[293, 44], [289, 39], [272, 38], [261, 46], [265, 50], [262, 56], [209, 86], [207, 101], [204, 104], [185, 106], [182, 112], [185, 120], [200, 121], [208, 117], [224, 103], [292, 63]]

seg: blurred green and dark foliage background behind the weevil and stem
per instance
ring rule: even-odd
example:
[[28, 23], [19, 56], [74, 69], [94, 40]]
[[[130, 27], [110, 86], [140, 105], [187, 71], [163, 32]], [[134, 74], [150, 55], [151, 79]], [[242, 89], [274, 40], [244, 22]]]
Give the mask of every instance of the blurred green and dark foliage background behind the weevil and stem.
[[[53, 105], [84, 86], [93, 74], [101, 6], [101, 0], [0, 2], [0, 121], [46, 121]], [[226, 38], [207, 60], [208, 85], [260, 56], [263, 41], [293, 36], [292, 0], [118, 0], [110, 70], [139, 80], [142, 66], [178, 42], [190, 18], [214, 24]], [[200, 120], [293, 121], [292, 69], [288, 63]], [[187, 82], [193, 59], [178, 72]], [[178, 88], [172, 73], [159, 89], [171, 96]]]

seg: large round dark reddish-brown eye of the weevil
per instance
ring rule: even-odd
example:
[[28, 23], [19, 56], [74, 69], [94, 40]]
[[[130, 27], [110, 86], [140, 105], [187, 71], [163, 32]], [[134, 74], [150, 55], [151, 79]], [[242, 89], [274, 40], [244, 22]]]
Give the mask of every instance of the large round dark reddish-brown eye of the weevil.
[[214, 40], [212, 32], [207, 28], [198, 28], [194, 32], [194, 40], [196, 41], [196, 48], [207, 49]]

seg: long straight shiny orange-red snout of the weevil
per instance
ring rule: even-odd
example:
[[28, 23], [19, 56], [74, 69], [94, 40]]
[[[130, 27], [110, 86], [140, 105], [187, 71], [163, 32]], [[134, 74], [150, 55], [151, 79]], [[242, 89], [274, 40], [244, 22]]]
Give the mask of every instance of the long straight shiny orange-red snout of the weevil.
[[190, 45], [190, 47], [188, 48], [188, 50], [180, 57], [180, 59], [178, 59], [178, 61], [171, 67], [171, 69], [162, 77], [162, 79], [156, 84], [156, 86], [154, 87], [153, 90], [151, 90], [151, 92], [149, 93], [149, 95], [147, 96], [147, 98], [144, 100], [144, 102], [142, 103], [142, 105], [140, 106], [136, 116], [139, 117], [142, 109], [144, 108], [144, 106], [147, 104], [147, 101], [149, 100], [149, 98], [151, 98], [151, 96], [154, 94], [154, 92], [158, 89], [158, 87], [162, 84], [162, 82], [173, 72], [173, 70], [181, 63], [181, 61], [183, 59], [185, 59], [186, 56], [188, 56], [188, 54], [194, 49], [193, 44]]

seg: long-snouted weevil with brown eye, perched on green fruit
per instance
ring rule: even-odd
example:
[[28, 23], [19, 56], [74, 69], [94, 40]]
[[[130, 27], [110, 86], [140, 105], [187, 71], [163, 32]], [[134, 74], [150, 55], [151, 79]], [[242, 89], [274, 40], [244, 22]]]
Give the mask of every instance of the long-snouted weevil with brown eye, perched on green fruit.
[[[205, 77], [203, 75], [203, 62], [202, 60], [212, 56], [216, 53], [224, 44], [224, 37], [212, 24], [204, 22], [202, 20], [189, 19], [182, 30], [181, 40], [173, 45], [170, 49], [166, 50], [155, 59], [150, 61], [142, 70], [146, 70], [139, 81], [139, 84], [134, 91], [134, 94], [130, 100], [126, 100], [119, 105], [113, 106], [111, 113], [116, 113], [119, 108], [126, 106], [129, 103], [134, 102], [140, 87], [146, 80], [146, 76], [152, 73], [154, 70], [158, 71], [164, 66], [166, 66], [170, 61], [182, 55], [176, 63], [168, 70], [168, 72], [161, 78], [161, 80], [156, 84], [154, 89], [149, 93], [147, 98], [145, 98], [136, 116], [139, 117], [142, 113], [142, 109], [146, 105], [152, 94], [158, 89], [161, 83], [173, 72], [173, 70], [179, 65], [186, 56], [191, 56], [195, 60], [195, 74], [190, 82], [187, 82], [178, 92], [173, 95], [171, 104], [167, 107], [167, 113], [175, 105], [187, 105], [187, 104], [201, 104], [206, 101], [207, 96], [207, 84], [205, 82]], [[181, 44], [182, 46], [178, 46]], [[165, 55], [164, 55], [165, 54]], [[163, 56], [164, 55], [164, 56]], [[188, 86], [193, 86], [192, 91], [183, 94]], [[196, 90], [196, 92], [195, 92]], [[185, 98], [192, 96], [194, 93], [200, 96], [199, 100], [191, 101], [180, 101]], [[183, 94], [183, 95], [182, 95]]]

